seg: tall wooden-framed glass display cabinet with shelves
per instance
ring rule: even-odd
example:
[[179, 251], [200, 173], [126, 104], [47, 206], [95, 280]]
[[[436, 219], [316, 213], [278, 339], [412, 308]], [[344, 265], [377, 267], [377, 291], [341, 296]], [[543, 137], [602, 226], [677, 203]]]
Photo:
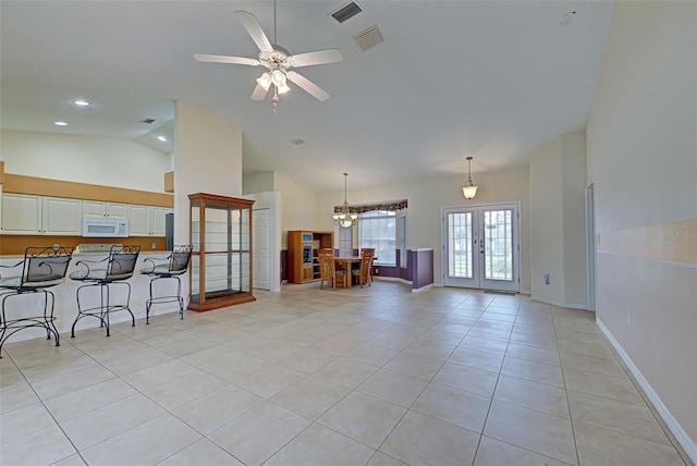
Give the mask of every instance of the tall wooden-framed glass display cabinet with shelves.
[[217, 309], [256, 301], [252, 294], [254, 200], [189, 194], [192, 272], [188, 308]]

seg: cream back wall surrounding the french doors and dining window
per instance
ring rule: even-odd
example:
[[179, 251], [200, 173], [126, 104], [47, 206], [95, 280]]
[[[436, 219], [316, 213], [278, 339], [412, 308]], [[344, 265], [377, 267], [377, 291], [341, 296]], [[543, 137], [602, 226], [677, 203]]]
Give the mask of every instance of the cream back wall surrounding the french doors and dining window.
[[[475, 183], [479, 186], [477, 196], [467, 200], [462, 195], [464, 175], [457, 177], [381, 186], [374, 189], [355, 192], [348, 189], [348, 204], [364, 204], [408, 199], [406, 220], [407, 247], [432, 247], [440, 252], [441, 246], [441, 207], [467, 206], [485, 203], [521, 201], [521, 287], [530, 290], [530, 234], [529, 234], [529, 173], [528, 170], [501, 171], [489, 173], [473, 173]], [[343, 204], [343, 189], [323, 193], [319, 198], [318, 223], [319, 230], [333, 231], [332, 212], [334, 206]], [[442, 284], [441, 255], [433, 255], [433, 280]]]

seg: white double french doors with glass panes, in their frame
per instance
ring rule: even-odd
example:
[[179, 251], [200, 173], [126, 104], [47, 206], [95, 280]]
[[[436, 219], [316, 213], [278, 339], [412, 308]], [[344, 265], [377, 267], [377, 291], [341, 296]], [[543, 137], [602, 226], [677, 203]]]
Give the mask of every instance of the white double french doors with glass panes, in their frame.
[[443, 209], [443, 285], [519, 291], [518, 206]]

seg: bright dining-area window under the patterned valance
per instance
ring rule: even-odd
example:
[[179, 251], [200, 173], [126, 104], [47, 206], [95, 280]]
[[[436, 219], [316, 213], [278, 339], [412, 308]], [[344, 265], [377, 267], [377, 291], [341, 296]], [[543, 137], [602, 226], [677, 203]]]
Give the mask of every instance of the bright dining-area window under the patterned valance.
[[358, 217], [359, 245], [375, 248], [378, 266], [396, 266], [396, 216], [390, 210], [371, 210]]

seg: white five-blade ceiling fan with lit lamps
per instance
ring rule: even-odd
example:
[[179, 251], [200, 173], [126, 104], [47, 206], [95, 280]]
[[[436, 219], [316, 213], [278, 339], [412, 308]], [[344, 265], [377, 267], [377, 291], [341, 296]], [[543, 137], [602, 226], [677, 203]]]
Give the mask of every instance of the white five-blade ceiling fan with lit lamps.
[[[279, 101], [279, 94], [290, 90], [288, 82], [296, 84], [316, 99], [325, 101], [329, 99], [329, 94], [322, 90], [315, 83], [299, 73], [292, 71], [292, 68], [310, 66], [315, 64], [335, 63], [343, 60], [339, 49], [318, 50], [299, 54], [291, 54], [283, 47], [271, 44], [264, 34], [256, 16], [249, 12], [237, 10], [234, 12], [252, 40], [259, 48], [257, 59], [246, 57], [213, 56], [206, 53], [194, 53], [194, 59], [209, 63], [232, 63], [246, 64], [250, 66], [265, 66], [268, 71], [257, 78], [257, 85], [252, 93], [253, 100], [264, 100], [267, 93], [273, 86], [273, 111]], [[276, 40], [276, 1], [273, 2], [273, 29]]]

